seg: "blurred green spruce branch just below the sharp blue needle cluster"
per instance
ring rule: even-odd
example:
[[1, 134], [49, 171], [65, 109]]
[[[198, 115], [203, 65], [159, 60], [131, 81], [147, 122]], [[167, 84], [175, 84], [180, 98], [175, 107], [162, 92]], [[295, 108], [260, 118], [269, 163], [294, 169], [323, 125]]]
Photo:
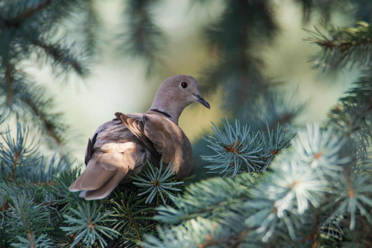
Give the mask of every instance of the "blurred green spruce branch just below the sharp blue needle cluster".
[[251, 187], [251, 177], [249, 174], [242, 174], [235, 178], [237, 178], [236, 181], [231, 178], [221, 180], [216, 177], [190, 184], [186, 187], [183, 196], [177, 197], [174, 201], [176, 208], [157, 207], [158, 214], [155, 219], [176, 224], [197, 217], [212, 216], [218, 222], [225, 223], [227, 220], [229, 222], [234, 220], [235, 224], [240, 226], [238, 223], [240, 220], [233, 219], [231, 213], [225, 210], [242, 207], [241, 201], [247, 197], [247, 190]]

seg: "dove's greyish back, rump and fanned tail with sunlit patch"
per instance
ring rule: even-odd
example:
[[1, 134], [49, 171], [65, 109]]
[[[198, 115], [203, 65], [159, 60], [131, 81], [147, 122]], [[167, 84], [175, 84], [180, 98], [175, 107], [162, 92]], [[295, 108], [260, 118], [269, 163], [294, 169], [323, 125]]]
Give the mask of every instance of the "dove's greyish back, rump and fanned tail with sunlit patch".
[[87, 167], [70, 186], [70, 191], [83, 190], [80, 196], [86, 200], [102, 199], [129, 170], [141, 170], [150, 155], [146, 146], [120, 120], [106, 122], [88, 142]]

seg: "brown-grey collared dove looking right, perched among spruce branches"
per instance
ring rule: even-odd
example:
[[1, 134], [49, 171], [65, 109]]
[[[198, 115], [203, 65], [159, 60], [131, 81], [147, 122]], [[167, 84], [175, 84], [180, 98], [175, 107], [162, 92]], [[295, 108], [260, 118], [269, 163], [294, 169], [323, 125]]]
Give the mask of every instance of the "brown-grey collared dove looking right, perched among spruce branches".
[[191, 103], [211, 109], [199, 92], [195, 78], [175, 75], [161, 83], [147, 112], [122, 114], [104, 123], [88, 139], [86, 168], [69, 190], [81, 191], [85, 200], [103, 199], [119, 185], [131, 181], [151, 164], [173, 163], [177, 179], [192, 169], [192, 147], [178, 126], [178, 119]]

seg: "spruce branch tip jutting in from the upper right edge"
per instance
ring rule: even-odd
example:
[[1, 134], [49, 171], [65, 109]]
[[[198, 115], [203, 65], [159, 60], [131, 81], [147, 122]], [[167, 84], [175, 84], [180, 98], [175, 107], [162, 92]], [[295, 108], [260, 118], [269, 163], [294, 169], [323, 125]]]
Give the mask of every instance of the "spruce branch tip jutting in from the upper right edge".
[[312, 57], [312, 68], [343, 68], [350, 62], [350, 67], [371, 65], [372, 62], [372, 27], [366, 22], [357, 22], [357, 27], [334, 27], [321, 22], [323, 32], [315, 26], [315, 32], [305, 30], [311, 37], [307, 41], [321, 46], [321, 51]]

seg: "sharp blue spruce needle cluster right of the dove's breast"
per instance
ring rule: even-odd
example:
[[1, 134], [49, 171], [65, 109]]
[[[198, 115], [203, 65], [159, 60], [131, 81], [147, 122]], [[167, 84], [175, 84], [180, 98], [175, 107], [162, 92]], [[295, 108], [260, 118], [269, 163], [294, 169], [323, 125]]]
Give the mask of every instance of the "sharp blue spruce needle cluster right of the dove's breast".
[[275, 136], [273, 130], [270, 133], [267, 123], [266, 135], [263, 132], [251, 132], [247, 125], [240, 130], [238, 120], [235, 120], [235, 130], [227, 118], [226, 122], [227, 124], [222, 121], [225, 132], [219, 130], [212, 122], [214, 136], [207, 135], [209, 139], [204, 138], [210, 144], [208, 147], [217, 155], [201, 156], [205, 161], [217, 163], [216, 165], [207, 165], [206, 168], [209, 168], [211, 172], [224, 173], [224, 176], [235, 177], [237, 173], [243, 171], [250, 173], [251, 170], [257, 173], [265, 171], [275, 155], [288, 147], [289, 141], [294, 137], [292, 135], [283, 141], [284, 134], [280, 134], [282, 127], [279, 127], [279, 123]]

